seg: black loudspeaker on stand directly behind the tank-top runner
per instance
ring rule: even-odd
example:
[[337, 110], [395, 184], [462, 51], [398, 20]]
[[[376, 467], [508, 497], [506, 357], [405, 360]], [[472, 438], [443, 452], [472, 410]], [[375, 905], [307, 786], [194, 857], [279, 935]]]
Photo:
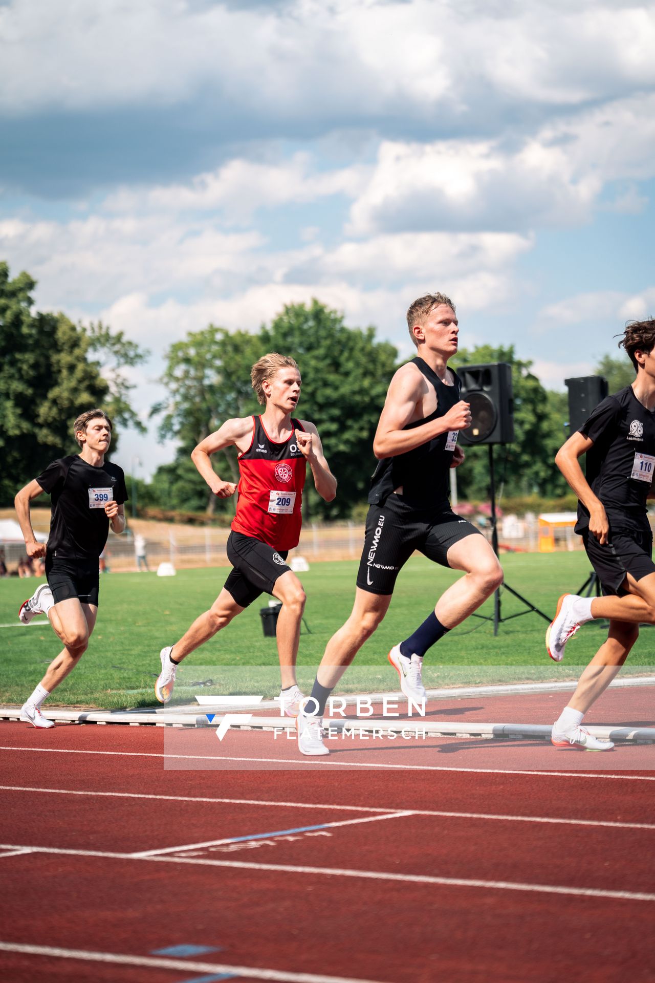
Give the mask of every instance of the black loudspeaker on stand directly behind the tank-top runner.
[[470, 404], [470, 427], [460, 431], [463, 443], [512, 443], [514, 399], [512, 366], [493, 362], [484, 366], [462, 366], [462, 399]]

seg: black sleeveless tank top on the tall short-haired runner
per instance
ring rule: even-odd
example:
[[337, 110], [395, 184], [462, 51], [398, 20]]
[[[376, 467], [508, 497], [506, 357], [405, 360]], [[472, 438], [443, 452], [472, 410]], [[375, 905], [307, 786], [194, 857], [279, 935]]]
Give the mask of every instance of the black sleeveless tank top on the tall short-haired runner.
[[[416, 356], [411, 361], [434, 386], [437, 393], [437, 408], [429, 417], [425, 417], [424, 420], [414, 420], [403, 430], [413, 430], [415, 427], [445, 416], [461, 399], [462, 381], [452, 369], [455, 384], [446, 385], [421, 358]], [[439, 434], [405, 454], [378, 461], [371, 478], [368, 503], [381, 505], [394, 489], [403, 486], [403, 498], [414, 508], [432, 508], [436, 505], [450, 507], [450, 468], [457, 436], [457, 431]]]

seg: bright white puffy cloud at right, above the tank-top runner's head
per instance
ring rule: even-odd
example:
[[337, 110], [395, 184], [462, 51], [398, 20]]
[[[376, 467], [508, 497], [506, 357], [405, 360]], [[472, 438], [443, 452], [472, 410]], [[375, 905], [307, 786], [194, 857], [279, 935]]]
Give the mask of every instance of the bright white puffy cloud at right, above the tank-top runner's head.
[[655, 175], [654, 150], [651, 94], [554, 120], [519, 145], [501, 138], [385, 141], [353, 203], [349, 231], [581, 224], [610, 182]]

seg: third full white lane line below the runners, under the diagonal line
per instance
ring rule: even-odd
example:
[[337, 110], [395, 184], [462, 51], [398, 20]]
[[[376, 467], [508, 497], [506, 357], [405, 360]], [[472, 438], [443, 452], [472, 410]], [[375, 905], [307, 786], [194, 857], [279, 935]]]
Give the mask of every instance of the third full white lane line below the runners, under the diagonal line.
[[247, 863], [245, 860], [204, 860], [198, 857], [139, 857], [131, 853], [110, 853], [102, 850], [73, 850], [54, 846], [27, 846], [0, 843], [2, 849], [27, 849], [32, 853], [57, 856], [97, 857], [109, 860], [132, 860], [134, 863], [191, 864], [199, 867], [231, 867], [236, 870], [266, 870], [283, 874], [314, 874], [325, 877], [348, 877], [364, 881], [392, 881], [404, 884], [440, 885], [447, 888], [482, 888], [488, 891], [519, 891], [538, 895], [569, 895], [574, 897], [611, 897], [628, 901], [655, 901], [655, 895], [645, 892], [612, 891], [605, 888], [573, 888], [553, 884], [529, 884], [521, 881], [486, 881], [479, 878], [436, 877], [428, 874], [391, 874], [386, 871], [351, 870], [342, 867], [307, 867], [297, 864]]

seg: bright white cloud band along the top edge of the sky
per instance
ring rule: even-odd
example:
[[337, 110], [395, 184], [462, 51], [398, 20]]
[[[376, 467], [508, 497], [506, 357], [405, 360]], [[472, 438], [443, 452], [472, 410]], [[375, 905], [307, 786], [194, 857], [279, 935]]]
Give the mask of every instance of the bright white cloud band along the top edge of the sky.
[[[0, 107], [72, 111], [209, 96], [217, 116], [403, 113], [473, 102], [574, 105], [655, 80], [647, 3], [13, 0], [0, 7]], [[431, 122], [431, 121], [430, 121]]]

